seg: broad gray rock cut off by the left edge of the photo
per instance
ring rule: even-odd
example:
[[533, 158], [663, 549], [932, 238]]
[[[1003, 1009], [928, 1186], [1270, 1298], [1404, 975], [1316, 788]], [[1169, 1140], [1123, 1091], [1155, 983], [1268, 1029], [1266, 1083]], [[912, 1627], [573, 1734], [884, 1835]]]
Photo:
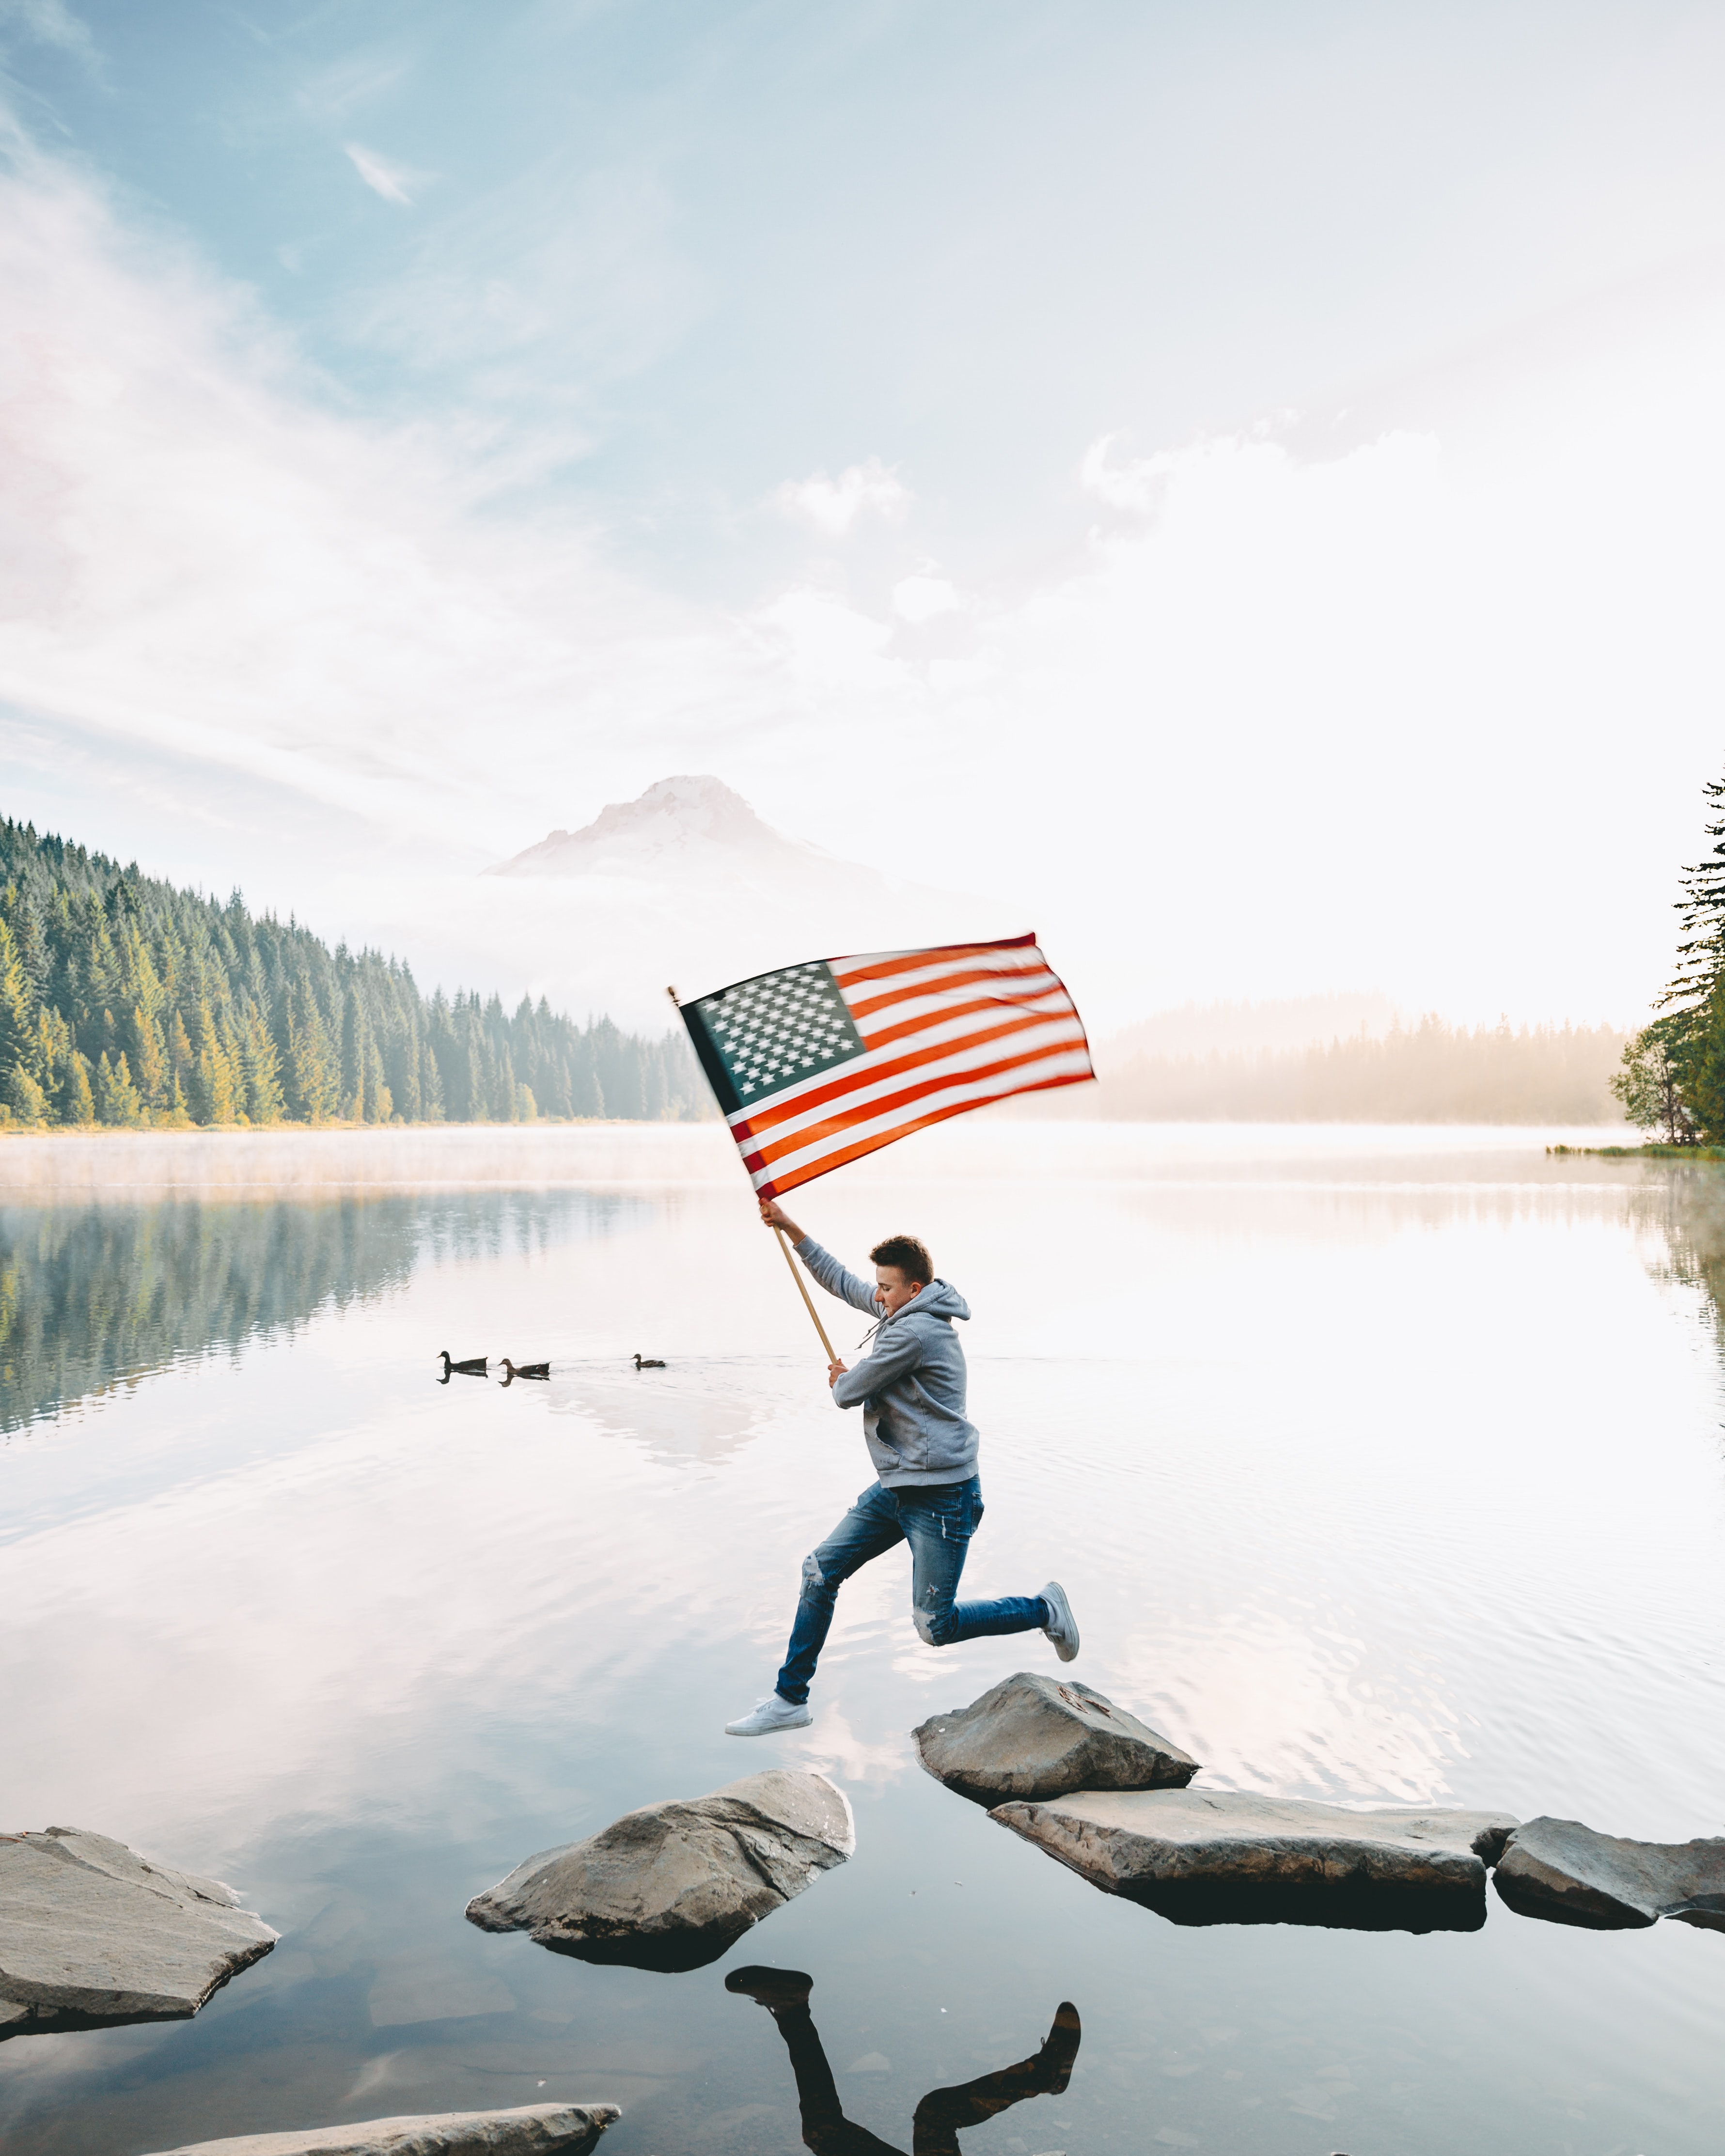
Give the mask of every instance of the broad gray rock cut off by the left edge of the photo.
[[106, 1835], [0, 1835], [0, 2037], [196, 2014], [276, 1936], [220, 1880]]

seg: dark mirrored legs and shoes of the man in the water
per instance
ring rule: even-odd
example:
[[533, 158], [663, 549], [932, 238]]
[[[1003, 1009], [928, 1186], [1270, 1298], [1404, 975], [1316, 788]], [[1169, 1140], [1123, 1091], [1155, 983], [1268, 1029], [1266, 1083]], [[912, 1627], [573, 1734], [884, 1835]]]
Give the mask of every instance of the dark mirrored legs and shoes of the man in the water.
[[[785, 2050], [791, 2055], [796, 2100], [802, 2104], [802, 2139], [815, 2156], [899, 2156], [891, 2141], [845, 2117], [809, 2012], [813, 1981], [798, 1968], [733, 1968], [724, 1990], [744, 1992], [778, 2022]], [[1065, 2093], [1072, 2061], [1078, 2057], [1078, 2007], [1063, 2001], [1054, 2027], [1033, 2059], [1003, 2065], [957, 2089], [929, 2089], [910, 2128], [912, 2156], [960, 2156], [957, 2137], [966, 2126], [981, 2126], [1011, 2104], [1022, 2104], [1026, 2096]]]

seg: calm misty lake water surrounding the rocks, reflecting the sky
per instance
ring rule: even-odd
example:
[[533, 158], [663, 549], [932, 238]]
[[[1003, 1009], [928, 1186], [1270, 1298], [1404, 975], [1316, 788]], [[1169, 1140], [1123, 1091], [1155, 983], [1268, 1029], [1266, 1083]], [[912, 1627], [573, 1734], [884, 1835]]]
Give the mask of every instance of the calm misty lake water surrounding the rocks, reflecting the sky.
[[[1550, 1132], [1005, 1123], [796, 1194], [970, 1298], [988, 1522], [1074, 1675], [1201, 1783], [1725, 1833], [1719, 1173]], [[1039, 1634], [936, 1651], [908, 1561], [841, 1595], [813, 1729], [772, 1684], [869, 1479], [714, 1128], [0, 1147], [0, 1828], [231, 1880], [276, 1951], [196, 2020], [0, 2044], [11, 2156], [543, 2100], [617, 2156], [800, 2147], [809, 1971], [847, 2115], [1026, 2057], [968, 2156], [1678, 2156], [1725, 2145], [1725, 1936], [1177, 1927], [921, 1772]], [[828, 1304], [841, 1350], [865, 1319]], [[433, 1354], [550, 1356], [436, 1384]], [[627, 1356], [664, 1356], [636, 1376]], [[858, 1852], [688, 1975], [461, 1917], [662, 1796], [819, 1766]]]

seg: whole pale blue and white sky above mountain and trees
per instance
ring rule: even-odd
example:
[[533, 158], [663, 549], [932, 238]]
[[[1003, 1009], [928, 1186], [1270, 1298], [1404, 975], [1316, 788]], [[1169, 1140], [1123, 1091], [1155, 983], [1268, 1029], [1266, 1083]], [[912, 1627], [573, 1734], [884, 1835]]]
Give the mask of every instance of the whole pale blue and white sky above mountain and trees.
[[1637, 1022], [1723, 95], [1667, 0], [0, 0], [0, 808], [513, 998], [479, 871], [712, 772], [1093, 1028]]

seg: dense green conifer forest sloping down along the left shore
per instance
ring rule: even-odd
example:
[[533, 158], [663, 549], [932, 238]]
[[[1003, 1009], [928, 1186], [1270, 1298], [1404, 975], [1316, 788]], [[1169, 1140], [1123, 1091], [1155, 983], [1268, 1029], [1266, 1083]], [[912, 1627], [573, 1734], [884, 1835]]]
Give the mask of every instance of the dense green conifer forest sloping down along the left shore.
[[681, 1031], [429, 1000], [401, 959], [0, 824], [0, 1123], [690, 1121]]

